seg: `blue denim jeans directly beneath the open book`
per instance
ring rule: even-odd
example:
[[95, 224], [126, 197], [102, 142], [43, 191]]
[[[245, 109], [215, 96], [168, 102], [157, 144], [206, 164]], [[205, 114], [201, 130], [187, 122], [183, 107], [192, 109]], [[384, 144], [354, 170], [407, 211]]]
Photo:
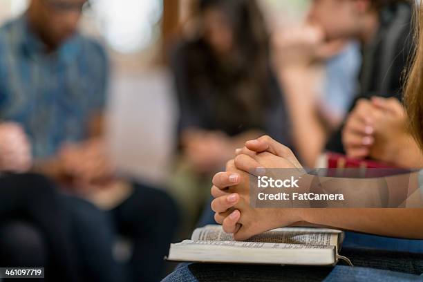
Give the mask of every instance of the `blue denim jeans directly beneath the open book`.
[[207, 281], [423, 281], [423, 276], [366, 267], [283, 267], [265, 265], [185, 264], [162, 282]]

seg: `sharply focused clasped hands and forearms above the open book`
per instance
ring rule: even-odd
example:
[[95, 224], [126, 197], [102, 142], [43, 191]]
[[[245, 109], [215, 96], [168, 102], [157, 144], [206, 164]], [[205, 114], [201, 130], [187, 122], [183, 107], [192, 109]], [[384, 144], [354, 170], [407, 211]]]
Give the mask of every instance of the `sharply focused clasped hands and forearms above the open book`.
[[[251, 171], [254, 167], [297, 168], [297, 159], [288, 148], [268, 137], [247, 142], [243, 151], [246, 150], [256, 155], [238, 155], [228, 163], [226, 172], [216, 174], [212, 187], [215, 219], [223, 224], [226, 232], [233, 233], [236, 240], [245, 240], [261, 232], [289, 225], [325, 226], [381, 236], [423, 239], [423, 208], [254, 209], [249, 202], [250, 178], [243, 170]], [[397, 182], [394, 178], [391, 179], [393, 183]], [[366, 185], [373, 188], [379, 185], [378, 180], [357, 181], [366, 181]], [[415, 187], [419, 186], [417, 173], [410, 176], [410, 182]], [[345, 182], [339, 184], [345, 185]]]

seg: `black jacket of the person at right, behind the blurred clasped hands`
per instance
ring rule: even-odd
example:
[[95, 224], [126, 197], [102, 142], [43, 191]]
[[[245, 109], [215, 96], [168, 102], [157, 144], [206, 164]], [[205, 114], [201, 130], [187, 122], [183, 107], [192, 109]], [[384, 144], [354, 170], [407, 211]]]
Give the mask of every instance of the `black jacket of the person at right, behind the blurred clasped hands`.
[[[357, 100], [373, 96], [397, 97], [401, 100], [404, 71], [413, 54], [411, 31], [412, 7], [406, 3], [395, 4], [381, 12], [381, 26], [373, 41], [362, 48], [363, 63], [359, 75]], [[332, 133], [326, 150], [345, 153], [342, 145], [342, 125]]]

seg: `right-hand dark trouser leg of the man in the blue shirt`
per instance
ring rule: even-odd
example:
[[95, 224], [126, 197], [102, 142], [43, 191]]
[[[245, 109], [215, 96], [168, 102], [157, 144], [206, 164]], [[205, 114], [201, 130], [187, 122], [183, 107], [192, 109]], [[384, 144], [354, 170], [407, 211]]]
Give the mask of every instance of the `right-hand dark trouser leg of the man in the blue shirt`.
[[110, 212], [116, 234], [129, 238], [132, 255], [124, 265], [129, 281], [160, 281], [178, 226], [176, 203], [164, 192], [134, 185], [134, 193]]

